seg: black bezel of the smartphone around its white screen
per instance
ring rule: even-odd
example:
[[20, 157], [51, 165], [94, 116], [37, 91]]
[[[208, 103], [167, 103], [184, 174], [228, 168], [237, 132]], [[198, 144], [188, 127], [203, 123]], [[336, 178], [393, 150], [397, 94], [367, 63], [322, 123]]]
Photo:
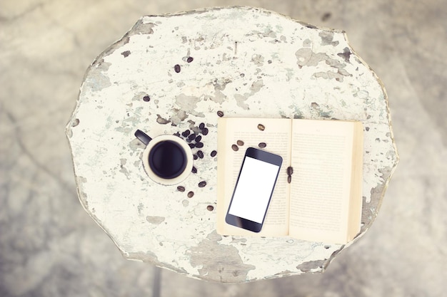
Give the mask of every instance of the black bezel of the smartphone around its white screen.
[[[266, 207], [266, 209], [264, 211], [263, 219], [262, 219], [262, 223], [261, 224], [259, 224], [257, 222], [253, 222], [253, 221], [251, 221], [249, 219], [244, 219], [244, 218], [241, 218], [241, 217], [236, 217], [233, 214], [229, 214], [229, 211], [231, 209], [231, 204], [233, 203], [234, 193], [236, 192], [236, 187], [238, 186], [239, 177], [241, 177], [241, 172], [242, 172], [242, 168], [243, 168], [243, 165], [245, 163], [246, 157], [252, 157], [254, 159], [261, 160], [263, 162], [268, 162], [270, 164], [278, 166], [278, 172], [276, 172], [275, 182], [273, 183], [273, 187], [271, 189], [270, 197], [268, 197], [267, 207]], [[247, 148], [247, 150], [245, 152], [245, 155], [243, 156], [241, 169], [239, 170], [238, 179], [237, 179], [236, 185], [234, 186], [234, 189], [233, 189], [233, 194], [231, 195], [231, 202], [230, 202], [230, 205], [228, 206], [228, 209], [226, 211], [225, 222], [227, 224], [230, 224], [230, 225], [233, 225], [233, 226], [237, 226], [239, 228], [246, 229], [246, 230], [249, 230], [249, 231], [253, 231], [253, 232], [256, 232], [256, 233], [261, 231], [263, 223], [264, 223], [264, 220], [266, 219], [268, 206], [270, 205], [270, 202], [271, 202], [271, 196], [273, 195], [273, 190], [275, 189], [276, 182], [278, 180], [278, 175], [279, 175], [279, 172], [281, 170], [282, 162], [283, 162], [283, 158], [281, 156], [279, 156], [279, 155], [275, 155], [275, 154], [272, 154], [271, 152], [266, 152], [264, 150], [258, 150], [255, 147], [248, 147]]]

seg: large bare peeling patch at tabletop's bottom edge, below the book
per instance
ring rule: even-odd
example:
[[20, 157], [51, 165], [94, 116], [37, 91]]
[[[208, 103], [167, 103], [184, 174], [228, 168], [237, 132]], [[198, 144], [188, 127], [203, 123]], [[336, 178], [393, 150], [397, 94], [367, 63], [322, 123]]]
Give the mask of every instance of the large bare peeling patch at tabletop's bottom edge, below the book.
[[[192, 266], [201, 266], [201, 278], [212, 281], [236, 282], [246, 281], [247, 273], [256, 267], [243, 264], [238, 249], [233, 246], [219, 244], [222, 236], [211, 232], [206, 239], [187, 251], [191, 256]], [[204, 251], [219, 250], [219, 253], [204, 253]]]

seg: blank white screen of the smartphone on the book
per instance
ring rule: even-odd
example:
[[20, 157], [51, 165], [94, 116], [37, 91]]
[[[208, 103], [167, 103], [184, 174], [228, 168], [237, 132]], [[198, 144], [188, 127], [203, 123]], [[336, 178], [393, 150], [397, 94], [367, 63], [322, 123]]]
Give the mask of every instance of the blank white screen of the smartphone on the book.
[[279, 166], [245, 157], [228, 214], [261, 224]]

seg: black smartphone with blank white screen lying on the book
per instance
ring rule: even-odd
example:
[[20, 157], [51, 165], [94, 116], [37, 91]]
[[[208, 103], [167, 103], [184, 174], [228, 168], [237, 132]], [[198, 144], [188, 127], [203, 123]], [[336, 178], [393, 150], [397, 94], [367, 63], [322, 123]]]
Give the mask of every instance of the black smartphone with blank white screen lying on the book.
[[282, 162], [279, 155], [248, 147], [226, 213], [228, 224], [261, 231]]

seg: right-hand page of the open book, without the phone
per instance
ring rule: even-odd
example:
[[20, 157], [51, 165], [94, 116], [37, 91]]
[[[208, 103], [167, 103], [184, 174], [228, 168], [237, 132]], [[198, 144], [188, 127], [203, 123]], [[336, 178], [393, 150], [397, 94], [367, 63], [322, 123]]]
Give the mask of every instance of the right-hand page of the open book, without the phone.
[[345, 243], [353, 123], [294, 120], [292, 130], [290, 234]]

